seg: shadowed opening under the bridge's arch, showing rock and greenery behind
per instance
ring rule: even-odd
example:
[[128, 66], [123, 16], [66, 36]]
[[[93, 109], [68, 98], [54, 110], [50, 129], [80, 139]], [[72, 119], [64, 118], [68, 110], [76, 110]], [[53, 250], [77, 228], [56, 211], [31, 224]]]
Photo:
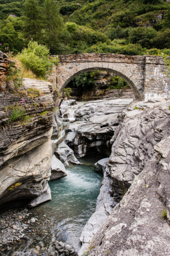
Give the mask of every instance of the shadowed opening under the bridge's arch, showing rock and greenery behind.
[[78, 101], [134, 98], [132, 89], [123, 78], [101, 70], [79, 74], [68, 82], [65, 89], [71, 89], [72, 99]]

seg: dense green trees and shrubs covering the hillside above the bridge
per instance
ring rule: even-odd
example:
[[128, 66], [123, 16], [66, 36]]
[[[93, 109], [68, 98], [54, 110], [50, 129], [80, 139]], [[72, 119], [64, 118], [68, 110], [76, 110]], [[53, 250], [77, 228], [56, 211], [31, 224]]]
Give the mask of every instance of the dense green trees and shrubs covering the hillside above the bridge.
[[14, 54], [32, 39], [51, 54], [141, 55], [170, 48], [164, 0], [0, 0], [0, 20], [0, 50]]

